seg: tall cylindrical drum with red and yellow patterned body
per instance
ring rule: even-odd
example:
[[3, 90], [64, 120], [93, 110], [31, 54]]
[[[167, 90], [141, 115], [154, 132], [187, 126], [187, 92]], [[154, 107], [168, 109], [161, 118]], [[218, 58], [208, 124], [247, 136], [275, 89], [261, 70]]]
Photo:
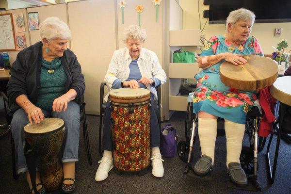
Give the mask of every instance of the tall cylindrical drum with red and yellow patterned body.
[[144, 172], [150, 163], [150, 92], [120, 88], [109, 96], [114, 167], [119, 172]]

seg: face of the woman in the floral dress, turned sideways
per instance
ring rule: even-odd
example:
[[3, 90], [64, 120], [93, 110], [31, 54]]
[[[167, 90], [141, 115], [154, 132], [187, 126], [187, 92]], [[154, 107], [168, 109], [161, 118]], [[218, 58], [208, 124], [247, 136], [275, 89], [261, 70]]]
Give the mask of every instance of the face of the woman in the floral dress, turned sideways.
[[246, 41], [252, 32], [252, 22], [239, 20], [235, 24], [228, 24], [228, 34], [231, 36], [232, 40], [238, 45], [241, 45]]

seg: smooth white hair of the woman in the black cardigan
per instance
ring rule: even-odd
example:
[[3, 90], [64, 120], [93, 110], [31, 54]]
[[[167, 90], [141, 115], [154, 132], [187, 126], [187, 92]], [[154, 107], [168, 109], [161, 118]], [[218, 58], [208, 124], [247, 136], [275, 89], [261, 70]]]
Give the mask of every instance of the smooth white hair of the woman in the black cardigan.
[[40, 37], [48, 41], [53, 39], [70, 39], [71, 32], [68, 25], [58, 17], [48, 17], [40, 25]]

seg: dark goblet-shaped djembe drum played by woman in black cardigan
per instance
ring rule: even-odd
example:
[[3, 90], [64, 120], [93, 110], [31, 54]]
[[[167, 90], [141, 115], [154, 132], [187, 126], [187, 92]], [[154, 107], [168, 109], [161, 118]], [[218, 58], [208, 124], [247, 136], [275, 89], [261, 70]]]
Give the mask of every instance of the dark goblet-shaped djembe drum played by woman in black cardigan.
[[38, 158], [41, 181], [47, 191], [60, 188], [63, 168], [57, 157], [62, 146], [65, 122], [59, 118], [45, 118], [38, 124], [27, 124], [24, 133]]

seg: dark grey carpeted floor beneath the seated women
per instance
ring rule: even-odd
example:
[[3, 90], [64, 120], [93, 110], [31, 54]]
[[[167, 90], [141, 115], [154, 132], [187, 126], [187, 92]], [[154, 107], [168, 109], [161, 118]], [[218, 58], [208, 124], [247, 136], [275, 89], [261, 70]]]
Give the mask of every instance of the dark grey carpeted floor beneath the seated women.
[[[2, 115], [2, 114], [0, 114]], [[178, 131], [179, 140], [184, 140], [184, 116], [183, 112], [176, 112], [170, 121], [162, 123], [162, 126], [170, 123]], [[182, 174], [185, 163], [176, 156], [173, 159], [164, 158], [164, 177], [155, 178], [149, 171], [145, 176], [124, 174], [119, 176], [114, 170], [109, 177], [102, 181], [95, 181], [95, 173], [98, 160], [101, 155], [98, 153], [98, 116], [87, 116], [87, 123], [90, 136], [91, 153], [93, 164], [88, 164], [82, 135], [80, 138], [79, 157], [76, 169], [76, 194], [246, 194], [250, 192], [230, 189], [226, 182], [226, 138], [218, 136], [215, 147], [215, 166], [211, 173], [212, 180], [206, 181], [195, 179]], [[1, 130], [1, 129], [0, 129]], [[1, 132], [1, 131], [0, 131]], [[82, 132], [82, 130], [81, 130]], [[82, 133], [81, 133], [82, 134]], [[275, 139], [273, 140], [271, 157], [275, 152]], [[244, 145], [248, 146], [247, 138], [244, 138]], [[259, 182], [264, 194], [291, 194], [291, 145], [281, 141], [277, 174], [275, 183], [269, 185], [267, 182], [265, 152], [266, 147], [259, 153]], [[0, 140], [0, 194], [28, 194], [28, 186], [25, 176], [21, 175], [17, 180], [12, 177], [11, 143], [10, 136]], [[199, 142], [194, 144], [194, 161], [200, 156]], [[54, 192], [59, 193], [59, 192]]]

